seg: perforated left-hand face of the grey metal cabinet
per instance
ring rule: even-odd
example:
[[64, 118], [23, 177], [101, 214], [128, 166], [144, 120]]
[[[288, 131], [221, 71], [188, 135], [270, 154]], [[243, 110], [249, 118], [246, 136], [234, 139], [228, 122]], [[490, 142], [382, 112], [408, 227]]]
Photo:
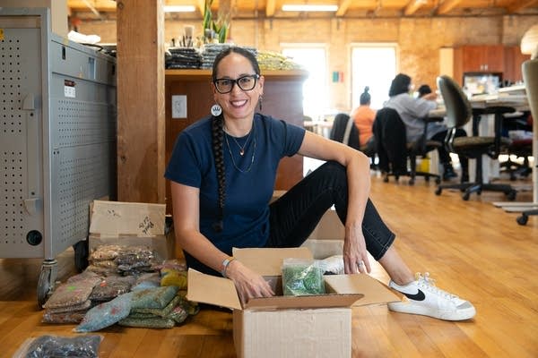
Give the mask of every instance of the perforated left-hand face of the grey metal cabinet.
[[[27, 116], [30, 112], [22, 109], [26, 95], [40, 95], [38, 41], [36, 29], [4, 29], [4, 39], [0, 41], [0, 257], [3, 258], [43, 256], [42, 244], [31, 246], [26, 241], [30, 230], [42, 232], [43, 217], [42, 211], [33, 211], [31, 215], [25, 207], [29, 198], [28, 168], [36, 168], [39, 163], [29, 163]], [[36, 158], [33, 154], [31, 158]], [[36, 187], [32, 185], [32, 194], [38, 196]]]

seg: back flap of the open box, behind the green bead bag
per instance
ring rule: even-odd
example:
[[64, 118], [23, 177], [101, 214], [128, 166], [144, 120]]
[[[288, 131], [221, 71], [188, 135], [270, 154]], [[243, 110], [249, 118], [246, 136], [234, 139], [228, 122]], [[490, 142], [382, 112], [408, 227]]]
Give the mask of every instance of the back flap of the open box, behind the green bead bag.
[[284, 259], [313, 260], [312, 252], [306, 247], [285, 249], [238, 249], [234, 247], [233, 257], [262, 276], [281, 276]]

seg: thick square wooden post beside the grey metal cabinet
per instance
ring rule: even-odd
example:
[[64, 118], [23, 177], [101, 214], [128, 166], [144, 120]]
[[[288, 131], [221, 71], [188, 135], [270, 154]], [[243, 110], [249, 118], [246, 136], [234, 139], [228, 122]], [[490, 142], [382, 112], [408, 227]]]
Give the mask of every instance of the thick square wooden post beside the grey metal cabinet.
[[162, 0], [117, 2], [117, 200], [164, 203]]

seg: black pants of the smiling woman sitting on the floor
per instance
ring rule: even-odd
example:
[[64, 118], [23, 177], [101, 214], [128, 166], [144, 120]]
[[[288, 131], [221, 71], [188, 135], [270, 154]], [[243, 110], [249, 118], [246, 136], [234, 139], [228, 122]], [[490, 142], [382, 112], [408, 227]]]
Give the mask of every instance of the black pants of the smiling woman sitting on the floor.
[[[325, 211], [334, 205], [340, 220], [347, 217], [346, 168], [327, 162], [307, 175], [270, 205], [270, 234], [266, 247], [297, 247], [307, 240]], [[362, 233], [375, 260], [383, 257], [395, 240], [371, 200], [368, 200]]]

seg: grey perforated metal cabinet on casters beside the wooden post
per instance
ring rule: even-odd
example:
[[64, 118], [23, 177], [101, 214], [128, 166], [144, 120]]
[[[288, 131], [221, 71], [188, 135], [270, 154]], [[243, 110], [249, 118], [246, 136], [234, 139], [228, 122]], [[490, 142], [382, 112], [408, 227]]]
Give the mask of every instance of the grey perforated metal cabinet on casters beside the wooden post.
[[51, 32], [46, 8], [0, 8], [0, 258], [87, 258], [89, 204], [115, 197], [116, 58]]

